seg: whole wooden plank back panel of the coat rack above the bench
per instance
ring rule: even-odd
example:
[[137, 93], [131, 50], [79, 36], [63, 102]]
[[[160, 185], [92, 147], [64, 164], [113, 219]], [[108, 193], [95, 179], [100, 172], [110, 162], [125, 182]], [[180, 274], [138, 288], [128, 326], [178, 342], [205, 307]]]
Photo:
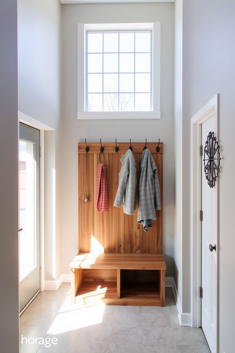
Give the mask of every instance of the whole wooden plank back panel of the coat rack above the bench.
[[[105, 165], [107, 178], [107, 193], [109, 212], [95, 211], [97, 164], [99, 163], [100, 143], [88, 144], [90, 150], [88, 157], [88, 199], [89, 204], [84, 205], [85, 198], [85, 143], [79, 143], [79, 251], [91, 251], [91, 235], [104, 247], [104, 252], [142, 252], [162, 253], [162, 209], [156, 210], [156, 221], [148, 232], [137, 222], [138, 187], [140, 179], [140, 157], [144, 143], [133, 143], [133, 154], [137, 164], [136, 211], [134, 215], [125, 215], [123, 207], [114, 207], [119, 172], [122, 166], [120, 158], [129, 148], [129, 143], [118, 144], [119, 152], [115, 152], [115, 143], [102, 144], [105, 148]], [[157, 143], [147, 143], [150, 149], [159, 177], [161, 207], [162, 207], [162, 161], [163, 143], [159, 144], [160, 152], [156, 152]]]

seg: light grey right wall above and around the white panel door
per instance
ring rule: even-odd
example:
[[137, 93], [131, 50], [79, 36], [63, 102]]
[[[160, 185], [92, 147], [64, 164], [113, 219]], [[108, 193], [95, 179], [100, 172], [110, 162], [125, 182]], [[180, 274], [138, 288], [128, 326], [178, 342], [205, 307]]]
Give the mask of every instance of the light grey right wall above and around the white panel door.
[[[183, 1], [183, 219], [190, 209], [190, 119], [219, 93], [219, 352], [234, 352], [235, 2]], [[187, 181], [188, 180], [188, 181]], [[190, 234], [188, 222], [185, 232]], [[187, 250], [190, 252], [190, 247]], [[190, 267], [189, 259], [187, 266]], [[185, 264], [185, 265], [186, 265]], [[188, 276], [187, 276], [188, 277]], [[187, 278], [186, 277], [186, 278]], [[183, 290], [185, 290], [183, 286]], [[186, 288], [186, 292], [188, 289]]]

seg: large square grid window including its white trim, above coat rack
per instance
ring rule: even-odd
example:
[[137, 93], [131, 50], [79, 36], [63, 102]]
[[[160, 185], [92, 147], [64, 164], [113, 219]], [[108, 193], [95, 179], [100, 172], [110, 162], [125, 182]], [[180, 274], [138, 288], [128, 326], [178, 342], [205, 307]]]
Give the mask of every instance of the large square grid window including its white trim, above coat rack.
[[78, 119], [160, 119], [160, 23], [78, 24]]

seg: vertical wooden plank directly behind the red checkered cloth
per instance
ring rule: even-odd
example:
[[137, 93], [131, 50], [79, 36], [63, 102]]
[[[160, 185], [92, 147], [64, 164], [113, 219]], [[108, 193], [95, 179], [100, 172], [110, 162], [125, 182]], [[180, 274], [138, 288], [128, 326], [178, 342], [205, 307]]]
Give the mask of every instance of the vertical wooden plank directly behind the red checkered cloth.
[[[100, 155], [101, 162], [103, 155]], [[104, 153], [104, 163], [107, 180], [107, 196], [109, 200], [109, 154]], [[109, 211], [95, 211], [97, 165], [99, 164], [99, 153], [94, 153], [94, 238], [103, 246], [104, 252], [109, 252]], [[110, 204], [109, 204], [110, 207]]]

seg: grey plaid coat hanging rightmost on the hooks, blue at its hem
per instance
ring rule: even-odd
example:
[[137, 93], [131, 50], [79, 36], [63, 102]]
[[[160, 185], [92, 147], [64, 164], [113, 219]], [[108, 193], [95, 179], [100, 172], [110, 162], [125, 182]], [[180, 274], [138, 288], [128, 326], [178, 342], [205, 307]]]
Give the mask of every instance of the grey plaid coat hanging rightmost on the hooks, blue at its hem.
[[147, 232], [148, 227], [152, 227], [152, 222], [156, 220], [155, 209], [161, 209], [160, 187], [157, 167], [148, 148], [143, 151], [140, 163], [137, 221], [143, 224], [143, 229]]

